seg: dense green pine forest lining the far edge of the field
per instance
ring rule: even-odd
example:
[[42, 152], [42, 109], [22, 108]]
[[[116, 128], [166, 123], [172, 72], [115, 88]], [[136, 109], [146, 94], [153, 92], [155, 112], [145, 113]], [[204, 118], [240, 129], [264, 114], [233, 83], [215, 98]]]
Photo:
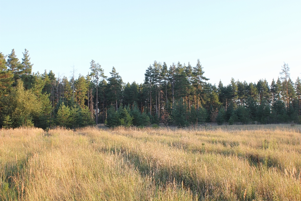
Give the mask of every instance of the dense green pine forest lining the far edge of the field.
[[199, 60], [186, 65], [154, 61], [144, 83], [124, 83], [113, 67], [110, 77], [92, 60], [90, 72], [70, 78], [50, 70], [33, 73], [29, 51], [0, 52], [0, 127], [78, 128], [197, 126], [204, 123], [301, 123], [301, 80], [283, 63], [279, 77], [254, 83], [230, 80], [212, 85]]

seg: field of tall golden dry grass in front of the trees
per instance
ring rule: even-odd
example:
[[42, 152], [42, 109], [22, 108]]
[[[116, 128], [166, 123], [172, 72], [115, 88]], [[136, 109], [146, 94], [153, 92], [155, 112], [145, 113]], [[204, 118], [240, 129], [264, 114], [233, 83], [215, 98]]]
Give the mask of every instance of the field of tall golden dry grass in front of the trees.
[[0, 200], [301, 200], [300, 125], [0, 130]]

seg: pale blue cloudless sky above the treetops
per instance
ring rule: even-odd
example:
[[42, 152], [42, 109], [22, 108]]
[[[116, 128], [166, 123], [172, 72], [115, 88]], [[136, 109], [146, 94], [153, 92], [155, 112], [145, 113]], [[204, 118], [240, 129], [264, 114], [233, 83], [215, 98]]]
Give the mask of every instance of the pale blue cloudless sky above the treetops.
[[33, 72], [87, 75], [93, 59], [125, 83], [158, 62], [196, 65], [212, 84], [301, 77], [301, 0], [0, 0], [0, 52]]

